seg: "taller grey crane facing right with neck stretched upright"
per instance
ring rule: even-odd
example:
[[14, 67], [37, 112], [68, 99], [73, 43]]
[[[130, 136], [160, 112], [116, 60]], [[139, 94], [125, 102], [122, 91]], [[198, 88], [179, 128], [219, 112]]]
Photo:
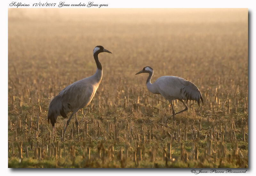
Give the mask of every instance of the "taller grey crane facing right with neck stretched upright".
[[[59, 95], [54, 97], [49, 105], [48, 110], [48, 122], [51, 121], [53, 133], [54, 133], [54, 124], [58, 116], [68, 118], [68, 113], [72, 112], [67, 121], [66, 127], [62, 135], [62, 141], [64, 139], [65, 132], [67, 130], [68, 124], [74, 114], [76, 114], [76, 128], [78, 131], [78, 121], [77, 121], [77, 112], [86, 106], [92, 101], [95, 92], [97, 91], [100, 81], [102, 79], [102, 66], [99, 61], [99, 53], [108, 52], [103, 46], [96, 46], [93, 50], [93, 57], [97, 65], [97, 70], [94, 75], [76, 81], [65, 87], [60, 91]], [[79, 135], [79, 134], [78, 134]]]

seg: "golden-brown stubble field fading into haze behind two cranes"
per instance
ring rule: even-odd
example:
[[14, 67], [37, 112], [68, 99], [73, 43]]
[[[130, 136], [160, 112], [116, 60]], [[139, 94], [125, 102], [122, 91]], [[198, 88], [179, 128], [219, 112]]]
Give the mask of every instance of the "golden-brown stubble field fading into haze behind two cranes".
[[[247, 9], [9, 9], [8, 167], [248, 167]], [[61, 142], [51, 99], [96, 71], [103, 78]], [[183, 77], [204, 108], [172, 118], [148, 74]], [[148, 96], [149, 95], [149, 96]], [[154, 97], [154, 98], [152, 98]], [[202, 105], [202, 103], [200, 102]], [[183, 109], [174, 102], [176, 112]], [[166, 123], [165, 123], [166, 122]]]

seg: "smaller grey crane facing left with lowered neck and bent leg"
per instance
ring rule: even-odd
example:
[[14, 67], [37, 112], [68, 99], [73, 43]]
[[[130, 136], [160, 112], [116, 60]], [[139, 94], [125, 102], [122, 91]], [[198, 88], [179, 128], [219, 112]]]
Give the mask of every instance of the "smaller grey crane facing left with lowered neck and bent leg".
[[157, 78], [156, 81], [152, 84], [150, 81], [154, 74], [153, 68], [144, 67], [140, 72], [136, 73], [135, 75], [138, 75], [140, 73], [149, 73], [146, 85], [150, 92], [154, 94], [161, 94], [165, 99], [167, 99], [170, 102], [171, 106], [172, 100], [174, 99], [178, 99], [183, 103], [185, 109], [177, 113], [175, 113], [174, 108], [172, 106], [173, 120], [174, 115], [188, 110], [188, 107], [183, 102], [183, 100], [187, 102], [188, 100], [195, 100], [198, 103], [198, 106], [200, 107], [201, 99], [204, 106], [204, 101], [201, 92], [199, 91], [198, 87], [196, 87], [196, 85], [191, 83], [190, 81], [187, 81], [186, 79], [177, 76], [161, 76]]

